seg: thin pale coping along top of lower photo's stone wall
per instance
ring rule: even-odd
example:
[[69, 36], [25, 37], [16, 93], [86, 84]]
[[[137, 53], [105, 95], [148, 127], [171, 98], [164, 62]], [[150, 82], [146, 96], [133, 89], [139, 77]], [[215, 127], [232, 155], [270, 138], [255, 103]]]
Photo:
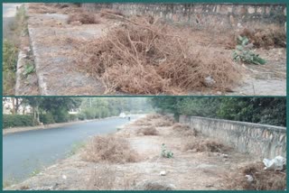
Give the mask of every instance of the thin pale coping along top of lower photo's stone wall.
[[182, 116], [198, 118], [198, 119], [203, 119], [203, 120], [218, 121], [218, 122], [229, 123], [229, 124], [240, 124], [240, 125], [244, 125], [244, 126], [253, 126], [253, 127], [258, 127], [260, 129], [263, 129], [263, 130], [269, 129], [269, 130], [275, 130], [278, 132], [286, 133], [286, 127], [284, 127], [284, 126], [275, 126], [275, 125], [270, 125], [270, 124], [255, 124], [255, 123], [248, 123], [248, 122], [231, 121], [231, 120], [226, 120], [226, 119], [215, 119], [215, 118], [191, 116], [191, 115], [182, 115]]

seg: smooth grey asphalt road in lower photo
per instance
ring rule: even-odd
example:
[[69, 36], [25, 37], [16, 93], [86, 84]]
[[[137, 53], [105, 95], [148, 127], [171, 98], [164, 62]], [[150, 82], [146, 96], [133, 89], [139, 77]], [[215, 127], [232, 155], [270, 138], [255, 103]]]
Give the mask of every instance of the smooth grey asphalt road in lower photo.
[[[132, 116], [131, 120], [139, 117]], [[3, 179], [21, 181], [56, 161], [65, 158], [73, 144], [91, 135], [113, 133], [127, 119], [108, 118], [47, 130], [11, 133], [3, 136]]]

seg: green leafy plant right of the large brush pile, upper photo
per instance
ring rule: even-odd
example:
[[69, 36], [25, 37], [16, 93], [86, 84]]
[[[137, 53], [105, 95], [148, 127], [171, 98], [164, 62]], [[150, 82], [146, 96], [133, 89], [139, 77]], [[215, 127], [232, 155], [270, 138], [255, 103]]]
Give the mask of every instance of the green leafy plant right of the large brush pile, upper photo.
[[248, 48], [248, 42], [246, 36], [238, 36], [236, 46], [236, 50], [233, 51], [233, 60], [242, 61], [249, 64], [266, 64], [266, 60], [259, 57], [258, 54], [254, 53], [253, 51], [250, 51]]

